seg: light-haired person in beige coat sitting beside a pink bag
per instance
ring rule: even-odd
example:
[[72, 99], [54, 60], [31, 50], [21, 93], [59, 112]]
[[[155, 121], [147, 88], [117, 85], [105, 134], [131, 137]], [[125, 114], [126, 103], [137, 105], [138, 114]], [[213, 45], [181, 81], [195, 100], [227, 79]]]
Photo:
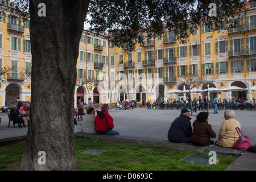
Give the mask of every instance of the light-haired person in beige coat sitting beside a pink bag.
[[216, 144], [222, 147], [235, 147], [236, 141], [239, 135], [236, 131], [236, 127], [241, 129], [240, 122], [236, 119], [236, 114], [233, 110], [227, 110], [224, 112], [225, 121], [222, 122], [220, 131], [218, 133], [218, 140]]

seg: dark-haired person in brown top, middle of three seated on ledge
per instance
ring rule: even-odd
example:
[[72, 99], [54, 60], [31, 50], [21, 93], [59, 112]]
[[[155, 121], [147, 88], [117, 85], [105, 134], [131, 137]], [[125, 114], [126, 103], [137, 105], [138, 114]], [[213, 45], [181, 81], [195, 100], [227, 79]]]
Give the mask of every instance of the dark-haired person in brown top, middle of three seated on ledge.
[[210, 138], [215, 138], [216, 133], [212, 130], [212, 126], [208, 124], [208, 113], [201, 112], [196, 115], [196, 120], [193, 122], [193, 133], [191, 143], [195, 146], [209, 146], [214, 144]]

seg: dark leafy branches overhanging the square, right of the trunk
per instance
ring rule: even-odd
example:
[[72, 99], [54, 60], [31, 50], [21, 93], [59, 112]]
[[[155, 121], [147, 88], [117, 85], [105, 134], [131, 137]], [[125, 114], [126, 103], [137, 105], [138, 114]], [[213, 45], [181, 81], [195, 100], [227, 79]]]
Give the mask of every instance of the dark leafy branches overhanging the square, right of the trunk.
[[[218, 30], [222, 20], [228, 20], [241, 12], [246, 0], [93, 0], [90, 1], [88, 22], [97, 32], [110, 31], [112, 42], [122, 47], [142, 43], [139, 35], [162, 35], [166, 29], [174, 30], [177, 39], [185, 42], [189, 31], [201, 24], [215, 24]], [[209, 14], [210, 3], [216, 5], [216, 16]], [[230, 8], [231, 7], [231, 8]], [[231, 25], [232, 26], [232, 25]], [[135, 41], [134, 41], [135, 40]]]

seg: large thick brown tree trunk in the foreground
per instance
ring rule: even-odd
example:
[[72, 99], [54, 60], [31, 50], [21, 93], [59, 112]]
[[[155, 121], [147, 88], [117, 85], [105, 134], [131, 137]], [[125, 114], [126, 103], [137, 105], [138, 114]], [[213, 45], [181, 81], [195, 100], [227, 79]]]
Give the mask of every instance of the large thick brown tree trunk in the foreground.
[[[39, 3], [46, 16], [39, 16]], [[22, 170], [77, 167], [74, 144], [74, 92], [79, 42], [89, 1], [30, 0], [32, 53], [31, 119]], [[40, 151], [46, 154], [42, 164]]]

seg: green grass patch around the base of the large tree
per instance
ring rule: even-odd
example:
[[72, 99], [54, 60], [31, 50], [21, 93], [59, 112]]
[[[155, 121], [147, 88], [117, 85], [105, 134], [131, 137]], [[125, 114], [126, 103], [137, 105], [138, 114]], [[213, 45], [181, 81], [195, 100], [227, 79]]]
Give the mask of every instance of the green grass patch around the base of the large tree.
[[[75, 146], [79, 163], [77, 170], [85, 171], [222, 171], [238, 157], [217, 155], [220, 163], [205, 167], [179, 161], [191, 154], [208, 156], [199, 152], [80, 137], [75, 137]], [[90, 149], [106, 151], [99, 155], [82, 153]], [[0, 170], [18, 170], [23, 150], [24, 142], [0, 148]]]

